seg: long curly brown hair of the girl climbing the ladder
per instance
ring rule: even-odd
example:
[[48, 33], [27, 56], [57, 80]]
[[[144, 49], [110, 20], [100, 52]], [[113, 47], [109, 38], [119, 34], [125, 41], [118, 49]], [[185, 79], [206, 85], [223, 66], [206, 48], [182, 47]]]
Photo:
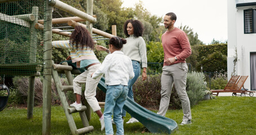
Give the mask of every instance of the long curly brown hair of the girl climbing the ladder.
[[69, 41], [73, 44], [73, 47], [76, 46], [78, 48], [78, 44], [80, 44], [82, 46], [82, 50], [84, 47], [89, 47], [92, 50], [94, 49], [91, 34], [86, 28], [80, 25], [75, 26], [75, 30], [72, 32]]

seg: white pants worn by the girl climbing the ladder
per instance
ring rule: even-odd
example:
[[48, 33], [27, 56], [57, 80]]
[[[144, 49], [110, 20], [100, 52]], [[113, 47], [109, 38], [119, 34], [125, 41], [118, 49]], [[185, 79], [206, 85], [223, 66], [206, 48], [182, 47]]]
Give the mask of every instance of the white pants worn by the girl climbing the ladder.
[[84, 91], [84, 96], [88, 104], [92, 107], [93, 112], [101, 109], [100, 105], [98, 105], [98, 101], [96, 96], [96, 88], [98, 82], [100, 82], [101, 77], [97, 79], [92, 79], [91, 74], [95, 73], [95, 71], [100, 68], [101, 64], [96, 64], [90, 66], [86, 71], [82, 74], [75, 77], [73, 80], [74, 93], [78, 95], [82, 95], [82, 83], [86, 83], [86, 90]]

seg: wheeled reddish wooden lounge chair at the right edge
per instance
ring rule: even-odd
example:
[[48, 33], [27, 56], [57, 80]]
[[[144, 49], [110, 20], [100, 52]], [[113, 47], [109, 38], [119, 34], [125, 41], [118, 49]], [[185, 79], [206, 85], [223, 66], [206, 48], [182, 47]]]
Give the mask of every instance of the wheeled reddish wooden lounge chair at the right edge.
[[[253, 92], [255, 91], [246, 91], [246, 89], [244, 88], [244, 83], [245, 83], [245, 80], [248, 78], [248, 75], [247, 76], [241, 76], [239, 78], [239, 80], [237, 81], [237, 83], [235, 84], [235, 86], [232, 88], [232, 96], [236, 96], [237, 94], [236, 93], [241, 93], [240, 96], [245, 96], [245, 94], [247, 94], [247, 92], [249, 92], [249, 96], [253, 96]], [[244, 90], [242, 90], [242, 88], [244, 88]]]

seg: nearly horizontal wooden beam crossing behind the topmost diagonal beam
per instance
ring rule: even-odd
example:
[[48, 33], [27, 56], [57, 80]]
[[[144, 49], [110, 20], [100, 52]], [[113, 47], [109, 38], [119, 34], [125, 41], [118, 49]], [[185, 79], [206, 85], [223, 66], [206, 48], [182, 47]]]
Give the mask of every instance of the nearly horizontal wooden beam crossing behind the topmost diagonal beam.
[[[93, 15], [96, 17], [96, 15]], [[52, 24], [64, 24], [66, 22], [68, 22], [69, 20], [74, 20], [74, 21], [86, 21], [86, 19], [82, 19], [80, 17], [63, 17], [63, 18], [56, 18], [56, 19], [52, 19]], [[38, 20], [39, 24], [43, 24], [43, 20]]]

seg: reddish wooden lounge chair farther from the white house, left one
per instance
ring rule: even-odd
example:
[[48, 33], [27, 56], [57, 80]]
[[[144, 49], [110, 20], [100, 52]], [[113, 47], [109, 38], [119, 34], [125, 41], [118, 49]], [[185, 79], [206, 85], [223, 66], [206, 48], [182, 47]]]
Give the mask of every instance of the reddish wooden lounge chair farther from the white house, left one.
[[[236, 84], [236, 81], [239, 79], [240, 75], [233, 75], [230, 80], [228, 81], [226, 87], [224, 89], [218, 89], [218, 90], [210, 90], [213, 95], [218, 96], [219, 92], [233, 92], [232, 89]], [[217, 93], [217, 94], [214, 94]]]

